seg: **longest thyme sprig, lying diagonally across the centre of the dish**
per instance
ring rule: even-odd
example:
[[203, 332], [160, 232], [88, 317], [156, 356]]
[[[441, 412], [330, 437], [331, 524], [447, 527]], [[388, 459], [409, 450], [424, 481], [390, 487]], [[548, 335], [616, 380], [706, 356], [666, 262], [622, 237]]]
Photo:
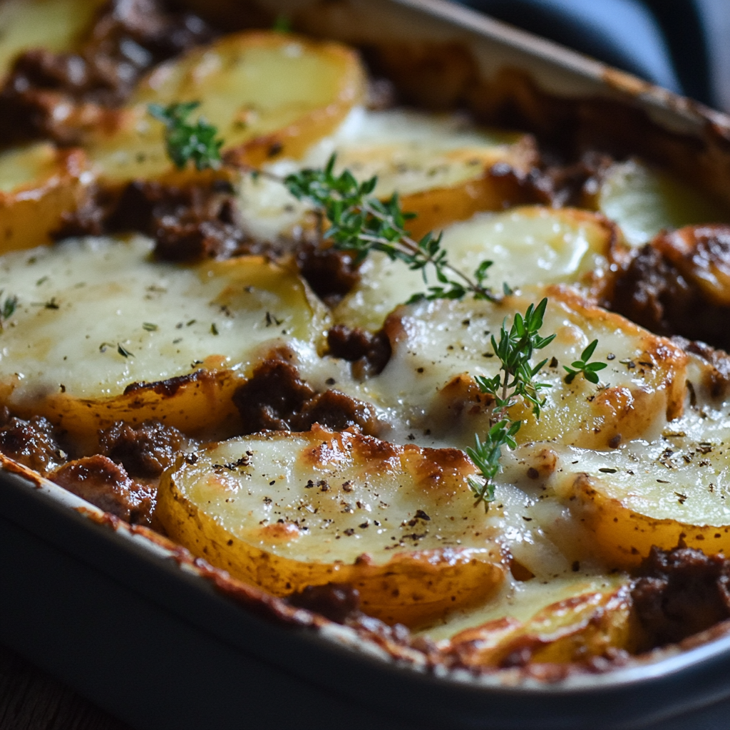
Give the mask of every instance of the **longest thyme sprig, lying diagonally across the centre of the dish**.
[[[283, 180], [296, 199], [311, 201], [327, 219], [329, 227], [323, 237], [335, 248], [354, 253], [356, 261], [362, 261], [371, 251], [380, 251], [391, 261], [402, 261], [412, 271], [422, 272], [427, 290], [412, 296], [409, 303], [461, 299], [467, 293], [476, 299], [497, 299], [485, 285], [491, 261], [483, 261], [471, 275], [452, 266], [441, 245], [441, 234], [428, 233], [419, 241], [410, 237], [406, 225], [415, 214], [401, 210], [397, 193], [387, 201], [380, 200], [372, 195], [377, 177], [358, 183], [349, 170], [336, 175], [335, 161], [332, 155], [323, 169], [304, 169]], [[429, 267], [434, 270], [437, 285], [428, 285]]]

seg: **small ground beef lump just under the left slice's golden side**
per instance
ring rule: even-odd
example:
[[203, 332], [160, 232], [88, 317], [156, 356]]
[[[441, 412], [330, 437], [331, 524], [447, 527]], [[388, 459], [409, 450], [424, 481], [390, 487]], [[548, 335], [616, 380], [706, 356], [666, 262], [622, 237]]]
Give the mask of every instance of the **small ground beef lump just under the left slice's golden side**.
[[147, 420], [142, 426], [118, 421], [99, 434], [100, 453], [122, 464], [133, 477], [159, 477], [176, 453], [190, 447], [190, 439], [158, 420]]

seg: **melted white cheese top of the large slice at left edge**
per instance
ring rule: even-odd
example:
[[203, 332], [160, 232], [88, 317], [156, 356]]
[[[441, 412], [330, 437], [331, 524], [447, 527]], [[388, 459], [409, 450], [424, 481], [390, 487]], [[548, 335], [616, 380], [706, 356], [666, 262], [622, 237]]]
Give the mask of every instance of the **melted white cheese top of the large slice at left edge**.
[[0, 289], [18, 298], [0, 335], [11, 402], [245, 372], [269, 343], [318, 342], [326, 315], [296, 274], [259, 258], [167, 264], [152, 250], [144, 237], [69, 239], [2, 260]]

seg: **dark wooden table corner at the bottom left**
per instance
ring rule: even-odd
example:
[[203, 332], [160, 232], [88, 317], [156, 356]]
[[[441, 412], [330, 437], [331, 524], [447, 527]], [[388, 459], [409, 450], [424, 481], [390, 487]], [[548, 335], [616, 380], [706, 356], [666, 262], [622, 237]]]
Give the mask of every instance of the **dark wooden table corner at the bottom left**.
[[0, 645], [0, 730], [130, 730]]

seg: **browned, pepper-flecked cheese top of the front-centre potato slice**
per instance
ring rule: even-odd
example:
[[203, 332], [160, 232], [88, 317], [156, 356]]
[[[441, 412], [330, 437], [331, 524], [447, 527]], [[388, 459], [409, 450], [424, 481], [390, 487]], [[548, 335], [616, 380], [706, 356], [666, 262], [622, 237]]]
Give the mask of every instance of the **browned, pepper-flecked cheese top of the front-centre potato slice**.
[[453, 548], [499, 558], [493, 515], [473, 510], [473, 464], [360, 434], [267, 434], [196, 454], [173, 479], [192, 504], [250, 545], [296, 560], [383, 564]]

